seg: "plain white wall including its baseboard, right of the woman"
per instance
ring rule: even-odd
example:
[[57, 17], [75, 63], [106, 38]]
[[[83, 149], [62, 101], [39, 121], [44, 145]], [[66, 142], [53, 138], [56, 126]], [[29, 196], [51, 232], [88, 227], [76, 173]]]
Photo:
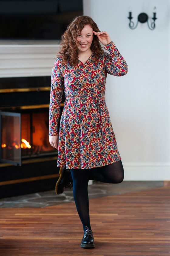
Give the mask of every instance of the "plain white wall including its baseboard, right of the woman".
[[[151, 23], [136, 24], [146, 12]], [[124, 165], [124, 180], [170, 180], [170, 1], [84, 0], [84, 15], [107, 31], [128, 65], [122, 77], [107, 76], [106, 104]]]

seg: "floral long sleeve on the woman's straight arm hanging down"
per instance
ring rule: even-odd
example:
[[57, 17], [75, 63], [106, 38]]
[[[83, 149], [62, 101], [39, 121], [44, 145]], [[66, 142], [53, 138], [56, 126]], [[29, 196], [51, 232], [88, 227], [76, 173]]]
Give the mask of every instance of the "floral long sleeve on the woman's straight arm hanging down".
[[63, 74], [61, 70], [61, 59], [56, 59], [51, 74], [51, 91], [49, 103], [49, 135], [59, 134], [58, 121], [60, 117], [60, 105], [63, 95]]

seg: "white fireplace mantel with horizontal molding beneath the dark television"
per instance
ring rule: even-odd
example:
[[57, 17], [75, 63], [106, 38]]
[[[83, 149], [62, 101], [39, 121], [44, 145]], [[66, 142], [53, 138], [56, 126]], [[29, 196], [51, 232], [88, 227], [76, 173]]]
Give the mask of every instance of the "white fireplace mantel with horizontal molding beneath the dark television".
[[51, 76], [59, 43], [0, 43], [0, 77]]

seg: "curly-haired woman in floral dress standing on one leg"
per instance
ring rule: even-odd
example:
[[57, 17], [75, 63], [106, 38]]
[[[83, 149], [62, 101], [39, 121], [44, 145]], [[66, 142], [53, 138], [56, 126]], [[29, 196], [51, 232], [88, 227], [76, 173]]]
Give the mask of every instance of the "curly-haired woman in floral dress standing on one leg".
[[[84, 230], [80, 244], [83, 248], [94, 247], [88, 181], [121, 183], [124, 179], [104, 93], [107, 73], [124, 76], [127, 71], [109, 34], [100, 32], [89, 16], [79, 16], [70, 23], [52, 70], [49, 142], [58, 149], [60, 177], [56, 194], [63, 193], [64, 187], [73, 182], [73, 196]], [[58, 132], [63, 90], [66, 100]]]

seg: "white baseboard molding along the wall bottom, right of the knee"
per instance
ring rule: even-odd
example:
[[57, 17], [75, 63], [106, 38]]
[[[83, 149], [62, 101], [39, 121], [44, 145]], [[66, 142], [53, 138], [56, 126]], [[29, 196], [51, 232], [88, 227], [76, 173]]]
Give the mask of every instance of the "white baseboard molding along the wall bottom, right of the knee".
[[123, 163], [124, 180], [170, 180], [170, 163]]

